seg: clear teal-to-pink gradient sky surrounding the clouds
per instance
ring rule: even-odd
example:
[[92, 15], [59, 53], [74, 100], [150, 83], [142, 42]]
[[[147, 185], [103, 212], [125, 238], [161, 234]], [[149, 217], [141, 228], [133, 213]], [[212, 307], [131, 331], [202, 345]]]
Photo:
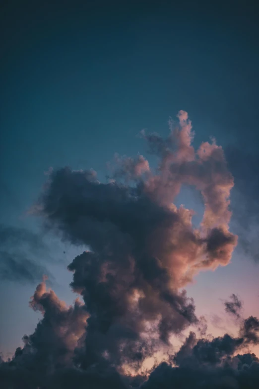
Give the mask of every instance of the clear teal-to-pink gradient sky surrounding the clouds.
[[[44, 172], [92, 167], [104, 179], [115, 152], [147, 155], [136, 135], [146, 128], [165, 136], [169, 116], [180, 109], [193, 122], [195, 144], [215, 137], [224, 148], [235, 146], [242, 169], [245, 155], [258, 160], [259, 27], [255, 1], [60, 3], [2, 7], [0, 223], [40, 234], [44, 247], [30, 257], [49, 270], [53, 289], [70, 303], [65, 267], [82, 250], [42, 237], [40, 222], [28, 215]], [[233, 196], [239, 199], [238, 189]], [[182, 203], [201, 212], [188, 190], [177, 199]], [[233, 213], [238, 209], [235, 204]], [[223, 316], [222, 301], [232, 293], [244, 301], [246, 316], [259, 314], [259, 265], [244, 251], [238, 246], [231, 264], [200, 273], [188, 286], [197, 314]], [[38, 281], [0, 280], [6, 356], [35, 328], [39, 316], [28, 301]]]

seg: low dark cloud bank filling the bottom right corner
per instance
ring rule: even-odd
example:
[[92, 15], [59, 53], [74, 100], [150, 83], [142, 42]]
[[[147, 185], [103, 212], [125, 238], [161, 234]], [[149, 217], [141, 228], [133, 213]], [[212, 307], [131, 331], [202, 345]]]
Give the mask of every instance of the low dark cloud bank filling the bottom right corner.
[[[212, 340], [196, 339], [190, 332], [169, 363], [154, 368], [142, 389], [256, 389], [259, 359], [255, 354], [237, 354], [244, 346], [258, 344], [259, 322], [249, 317], [241, 324], [241, 337], [228, 334]], [[237, 354], [237, 355], [236, 355]]]

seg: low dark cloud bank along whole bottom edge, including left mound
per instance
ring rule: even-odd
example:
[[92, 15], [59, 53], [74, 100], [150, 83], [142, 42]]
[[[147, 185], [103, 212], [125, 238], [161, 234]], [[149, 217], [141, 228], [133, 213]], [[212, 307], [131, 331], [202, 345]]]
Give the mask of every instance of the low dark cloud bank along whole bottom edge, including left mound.
[[150, 375], [132, 377], [120, 373], [107, 360], [88, 367], [76, 366], [73, 349], [75, 344], [82, 344], [88, 317], [84, 304], [75, 302], [66, 307], [53, 291], [46, 290], [43, 282], [31, 306], [43, 313], [43, 319], [32, 335], [24, 336], [24, 347], [16, 350], [13, 359], [1, 361], [0, 380], [4, 389], [258, 388], [259, 359], [255, 354], [240, 354], [244, 346], [259, 343], [256, 317], [243, 321], [242, 336], [236, 338], [225, 334], [198, 339], [190, 332], [168, 363], [153, 367]]

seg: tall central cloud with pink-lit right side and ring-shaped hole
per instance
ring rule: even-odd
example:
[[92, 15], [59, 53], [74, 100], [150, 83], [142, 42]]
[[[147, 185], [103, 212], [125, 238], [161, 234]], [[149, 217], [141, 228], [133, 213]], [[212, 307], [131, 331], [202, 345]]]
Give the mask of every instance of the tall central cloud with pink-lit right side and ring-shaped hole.
[[[164, 141], [145, 135], [160, 158], [156, 172], [143, 156], [116, 156], [107, 183], [93, 170], [53, 170], [38, 209], [46, 226], [90, 251], [68, 266], [74, 292], [84, 299], [87, 321], [84, 369], [106, 355], [115, 366], [140, 367], [170, 336], [198, 324], [194, 302], [179, 288], [200, 269], [226, 265], [236, 244], [228, 231], [233, 179], [223, 151], [204, 143], [195, 151], [192, 125], [184, 111], [180, 127]], [[182, 184], [202, 193], [200, 231], [189, 210], [172, 205]], [[151, 326], [152, 340], [147, 338]], [[79, 362], [78, 362], [79, 363]]]

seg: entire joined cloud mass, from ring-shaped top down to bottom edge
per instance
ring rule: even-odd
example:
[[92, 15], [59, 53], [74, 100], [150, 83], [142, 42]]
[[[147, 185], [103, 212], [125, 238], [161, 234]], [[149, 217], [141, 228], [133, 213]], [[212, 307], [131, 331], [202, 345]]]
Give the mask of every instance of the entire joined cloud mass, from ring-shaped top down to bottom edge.
[[[191, 332], [169, 357], [172, 366], [162, 364], [145, 384], [147, 377], [139, 376], [147, 357], [172, 352], [172, 335], [191, 324], [205, 335], [204, 318], [196, 317], [194, 301], [182, 288], [200, 270], [227, 265], [237, 243], [229, 232], [234, 183], [223, 150], [215, 141], [194, 150], [187, 113], [180, 111], [178, 119], [178, 126], [170, 122], [165, 140], [142, 132], [149, 152], [159, 158], [155, 170], [143, 156], [117, 155], [106, 183], [93, 170], [50, 171], [37, 209], [47, 228], [89, 247], [68, 266], [71, 288], [84, 304], [66, 307], [45, 282], [37, 287], [31, 307], [43, 319], [13, 360], [2, 364], [6, 388], [30, 376], [31, 387], [42, 389], [184, 388], [188, 379], [185, 386], [179, 380], [188, 371], [195, 378], [211, 365], [204, 374], [213, 373], [212, 380], [228, 357], [234, 361], [243, 345], [257, 342], [256, 318], [244, 321], [239, 338], [226, 334], [209, 341]], [[204, 200], [198, 228], [192, 225], [193, 210], [174, 205], [182, 185], [194, 186]], [[253, 356], [246, 360], [257, 363]]]

